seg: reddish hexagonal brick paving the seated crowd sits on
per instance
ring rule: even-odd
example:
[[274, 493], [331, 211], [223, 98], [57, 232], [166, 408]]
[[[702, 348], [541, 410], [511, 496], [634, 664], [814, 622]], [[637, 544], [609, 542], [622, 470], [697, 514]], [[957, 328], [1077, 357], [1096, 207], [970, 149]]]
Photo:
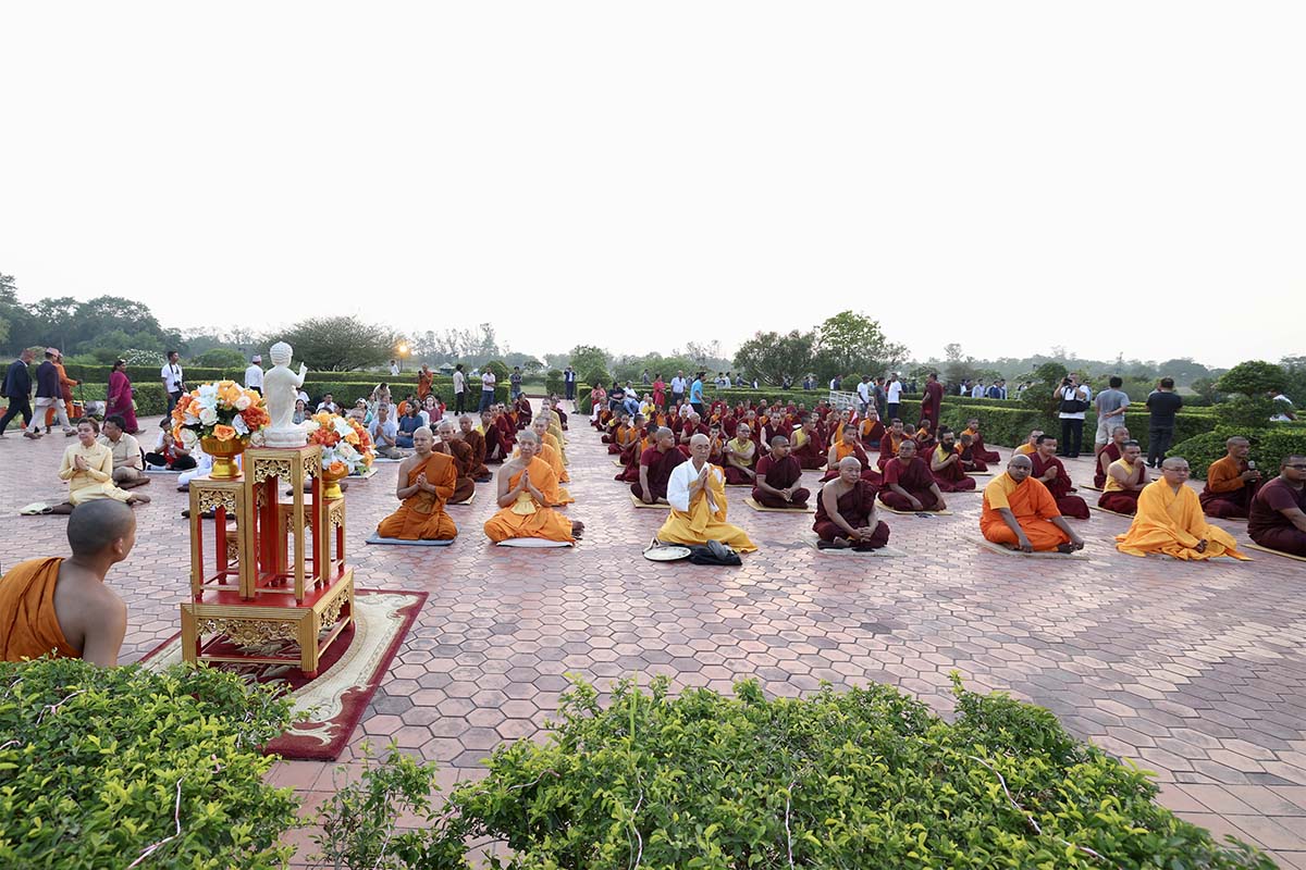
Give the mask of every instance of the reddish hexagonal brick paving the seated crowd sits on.
[[[148, 421], [153, 427], [154, 421]], [[60, 518], [18, 506], [60, 492], [65, 446], [0, 441], [0, 561], [64, 552]], [[662, 514], [633, 510], [588, 425], [569, 436], [569, 513], [586, 522], [576, 550], [487, 547], [491, 484], [451, 509], [462, 536], [440, 550], [364, 547], [394, 503], [396, 466], [353, 484], [350, 560], [368, 588], [431, 593], [342, 759], [371, 738], [439, 760], [445, 784], [475, 776], [499, 741], [534, 734], [576, 672], [606, 685], [631, 670], [678, 686], [726, 690], [755, 676], [798, 695], [825, 680], [901, 686], [947, 711], [948, 672], [1053, 710], [1080, 737], [1156, 771], [1162, 800], [1217, 833], [1306, 869], [1306, 570], [1301, 562], [1187, 565], [1117, 553], [1126, 520], [1080, 523], [1091, 561], [981, 550], [978, 494], [948, 496], [955, 517], [888, 515], [910, 558], [823, 554], [802, 540], [811, 518], [751, 511], [730, 490], [730, 518], [761, 547], [742, 569], [640, 558]], [[1006, 451], [1003, 451], [1006, 454]], [[1079, 480], [1089, 460], [1072, 463]], [[808, 481], [815, 475], [808, 472]], [[185, 496], [163, 477], [138, 510], [132, 558], [111, 582], [127, 599], [124, 648], [136, 660], [178, 629], [187, 586]], [[814, 487], [812, 487], [814, 488]], [[1093, 493], [1088, 493], [1093, 496]], [[1238, 523], [1226, 523], [1246, 540]], [[310, 805], [332, 764], [282, 763], [273, 777]], [[296, 835], [303, 840], [306, 835]]]

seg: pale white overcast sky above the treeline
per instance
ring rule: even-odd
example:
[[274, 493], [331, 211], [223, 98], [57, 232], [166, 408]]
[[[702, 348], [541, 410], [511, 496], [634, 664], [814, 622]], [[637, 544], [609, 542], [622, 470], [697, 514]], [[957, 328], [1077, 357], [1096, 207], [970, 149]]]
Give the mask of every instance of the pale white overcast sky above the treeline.
[[535, 353], [1306, 352], [1306, 4], [5, 3], [0, 271]]

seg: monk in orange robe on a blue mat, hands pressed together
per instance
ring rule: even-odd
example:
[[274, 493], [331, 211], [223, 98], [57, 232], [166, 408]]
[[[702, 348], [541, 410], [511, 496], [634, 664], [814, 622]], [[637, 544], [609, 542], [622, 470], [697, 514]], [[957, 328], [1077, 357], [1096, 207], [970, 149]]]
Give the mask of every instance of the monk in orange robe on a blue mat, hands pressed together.
[[[436, 453], [435, 436], [428, 427], [418, 427], [413, 433], [417, 451], [400, 463], [394, 496], [400, 509], [376, 526], [380, 537], [405, 541], [452, 541], [458, 530], [444, 513], [458, 483], [458, 467], [453, 457]], [[473, 484], [474, 485], [474, 484]]]

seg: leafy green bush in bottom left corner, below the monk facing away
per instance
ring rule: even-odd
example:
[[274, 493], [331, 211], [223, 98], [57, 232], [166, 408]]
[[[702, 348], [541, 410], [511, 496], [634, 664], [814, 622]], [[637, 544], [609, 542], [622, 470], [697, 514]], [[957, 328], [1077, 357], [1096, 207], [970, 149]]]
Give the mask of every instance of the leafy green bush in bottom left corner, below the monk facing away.
[[290, 789], [260, 746], [290, 702], [208, 668], [0, 663], [0, 866], [281, 867]]

